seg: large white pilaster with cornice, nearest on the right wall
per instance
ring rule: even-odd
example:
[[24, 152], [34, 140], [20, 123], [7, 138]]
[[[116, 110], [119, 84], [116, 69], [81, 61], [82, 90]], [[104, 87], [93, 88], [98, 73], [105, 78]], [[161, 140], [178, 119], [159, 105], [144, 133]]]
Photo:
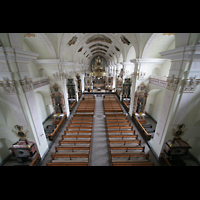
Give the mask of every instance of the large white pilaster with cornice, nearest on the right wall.
[[[162, 57], [171, 60], [171, 68], [163, 107], [152, 141], [152, 147], [158, 156], [166, 140], [172, 138], [171, 131], [174, 128], [173, 126], [187, 123], [184, 119], [195, 91], [190, 83], [191, 81], [195, 83], [194, 86], [198, 84], [195, 77], [191, 75], [200, 75], [200, 70], [197, 67], [197, 63], [200, 61], [199, 50], [199, 45], [190, 45], [160, 53]], [[190, 78], [193, 80], [190, 80]], [[188, 125], [191, 126], [191, 124]]]

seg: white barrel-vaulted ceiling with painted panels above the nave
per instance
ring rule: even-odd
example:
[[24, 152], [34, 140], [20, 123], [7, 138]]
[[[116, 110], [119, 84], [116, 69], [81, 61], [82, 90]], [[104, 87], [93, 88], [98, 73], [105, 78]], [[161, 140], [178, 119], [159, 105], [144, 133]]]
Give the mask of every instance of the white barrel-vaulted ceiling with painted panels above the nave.
[[40, 54], [38, 59], [63, 59], [79, 64], [90, 64], [96, 55], [105, 57], [108, 64], [160, 57], [159, 52], [165, 51], [174, 39], [174, 35], [163, 33], [24, 34], [24, 43]]

